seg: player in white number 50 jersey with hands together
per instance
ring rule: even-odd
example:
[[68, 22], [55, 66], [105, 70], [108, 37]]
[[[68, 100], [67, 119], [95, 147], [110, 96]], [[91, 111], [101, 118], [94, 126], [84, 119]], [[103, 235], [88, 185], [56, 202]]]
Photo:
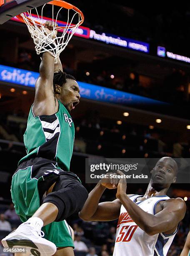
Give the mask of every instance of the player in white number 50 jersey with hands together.
[[[178, 166], [170, 157], [161, 158], [151, 171], [145, 195], [127, 195], [126, 179], [102, 179], [90, 192], [80, 218], [86, 221], [118, 220], [114, 256], [166, 256], [184, 218], [181, 198], [166, 195], [175, 182]], [[123, 173], [118, 171], [118, 174]], [[99, 203], [105, 189], [117, 188], [117, 199]]]

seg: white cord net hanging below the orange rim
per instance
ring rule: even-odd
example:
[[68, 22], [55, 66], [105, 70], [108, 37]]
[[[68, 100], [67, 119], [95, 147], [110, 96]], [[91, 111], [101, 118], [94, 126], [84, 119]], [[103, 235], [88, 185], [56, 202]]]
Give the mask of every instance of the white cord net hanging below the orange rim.
[[[56, 18], [54, 20], [54, 15], [53, 15], [54, 5], [52, 5], [52, 21], [54, 22], [53, 30], [51, 31], [50, 34], [47, 34], [47, 33], [45, 33], [45, 28], [43, 26], [43, 24], [46, 21], [43, 18], [43, 9], [44, 9], [45, 5], [43, 5], [43, 7], [42, 7], [41, 15], [38, 14], [38, 11], [36, 8], [32, 10], [32, 13], [34, 12], [34, 10], [36, 10], [37, 17], [32, 16], [31, 10], [27, 11], [25, 13], [22, 13], [21, 15], [28, 27], [31, 37], [34, 40], [35, 50], [36, 50], [37, 54], [48, 51], [52, 56], [55, 57], [55, 63], [57, 63], [57, 57], [65, 49], [68, 42], [72, 38], [73, 34], [76, 32], [82, 18], [81, 18], [80, 13], [71, 9], [75, 13], [70, 20], [69, 15], [70, 15], [71, 10], [68, 9], [68, 18], [67, 18], [67, 24], [65, 25], [65, 28], [60, 28], [59, 26], [55, 27], [55, 24], [57, 23], [58, 14], [62, 10], [62, 7], [60, 7], [60, 10], [57, 12]], [[48, 5], [48, 6], [50, 7], [50, 5]], [[70, 28], [70, 26], [73, 26], [72, 21], [76, 15], [78, 15], [78, 22], [73, 28]], [[29, 21], [27, 19], [27, 17], [29, 17], [31, 20]], [[35, 20], [40, 22], [41, 25], [36, 24]], [[40, 27], [41, 27], [41, 30], [40, 30]], [[53, 38], [53, 35], [55, 35], [55, 28], [56, 28], [56, 30], [61, 29], [62, 31], [61, 31], [61, 36], [58, 36], [58, 33], [57, 33], [57, 36], [55, 38]], [[47, 50], [45, 48], [47, 46], [50, 46], [51, 49]]]

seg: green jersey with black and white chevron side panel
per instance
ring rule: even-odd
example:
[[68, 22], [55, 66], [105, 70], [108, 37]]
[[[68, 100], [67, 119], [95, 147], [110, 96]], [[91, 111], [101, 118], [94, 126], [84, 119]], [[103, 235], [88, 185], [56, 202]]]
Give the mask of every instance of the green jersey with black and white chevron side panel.
[[58, 167], [69, 171], [75, 128], [67, 109], [60, 101], [58, 103], [59, 110], [53, 115], [35, 117], [31, 107], [24, 134], [27, 155], [18, 164], [30, 158], [42, 157], [57, 161]]

